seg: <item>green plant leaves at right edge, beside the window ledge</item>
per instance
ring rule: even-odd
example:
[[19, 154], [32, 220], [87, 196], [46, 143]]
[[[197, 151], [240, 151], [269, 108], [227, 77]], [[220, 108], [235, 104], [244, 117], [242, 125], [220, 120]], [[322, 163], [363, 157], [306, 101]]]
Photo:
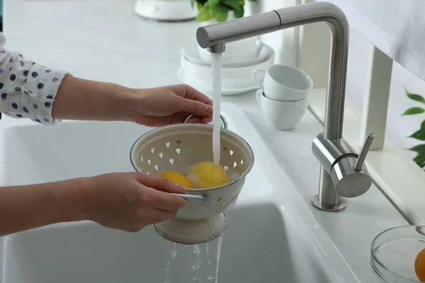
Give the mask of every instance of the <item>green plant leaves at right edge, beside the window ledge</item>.
[[[412, 99], [416, 101], [417, 103], [421, 103], [425, 105], [425, 98], [422, 96], [419, 96], [419, 94], [409, 93], [409, 91], [406, 91], [406, 95], [409, 99]], [[425, 109], [422, 107], [412, 107], [407, 109], [403, 115], [419, 115], [425, 113]], [[419, 141], [425, 141], [425, 120], [421, 122], [421, 126], [419, 129], [411, 134], [409, 137], [413, 139], [417, 139]], [[413, 146], [409, 149], [410, 151], [415, 151], [416, 156], [414, 157], [413, 161], [420, 167], [425, 170], [425, 143], [424, 144], [418, 144], [416, 146]]]

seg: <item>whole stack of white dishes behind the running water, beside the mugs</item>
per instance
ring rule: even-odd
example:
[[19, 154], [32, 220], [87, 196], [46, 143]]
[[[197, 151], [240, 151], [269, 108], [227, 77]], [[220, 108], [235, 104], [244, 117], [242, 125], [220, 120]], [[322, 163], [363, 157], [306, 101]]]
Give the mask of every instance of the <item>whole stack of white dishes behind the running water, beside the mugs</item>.
[[[253, 71], [257, 68], [266, 69], [273, 64], [274, 51], [268, 45], [257, 41], [254, 46], [246, 48], [249, 52], [222, 54], [222, 96], [237, 95], [258, 88]], [[205, 52], [208, 51], [200, 50], [196, 43], [184, 47], [181, 50], [181, 67], [177, 76], [183, 83], [208, 95], [212, 93], [211, 61]]]

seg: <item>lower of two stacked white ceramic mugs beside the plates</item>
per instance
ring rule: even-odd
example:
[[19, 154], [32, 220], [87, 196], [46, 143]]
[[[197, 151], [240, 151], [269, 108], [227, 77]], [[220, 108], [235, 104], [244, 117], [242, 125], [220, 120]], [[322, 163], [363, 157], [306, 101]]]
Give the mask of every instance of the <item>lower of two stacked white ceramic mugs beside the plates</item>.
[[276, 129], [294, 129], [307, 110], [308, 98], [297, 101], [273, 100], [264, 96], [261, 89], [255, 96], [268, 122]]

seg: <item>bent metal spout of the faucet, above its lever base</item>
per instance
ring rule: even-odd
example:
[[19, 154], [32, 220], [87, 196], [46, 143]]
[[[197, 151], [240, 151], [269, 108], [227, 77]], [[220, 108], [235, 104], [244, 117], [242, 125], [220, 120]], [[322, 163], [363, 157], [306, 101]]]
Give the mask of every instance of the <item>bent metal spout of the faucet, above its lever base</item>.
[[200, 47], [208, 48], [211, 52], [220, 52], [220, 49], [217, 51], [217, 45], [224, 46], [226, 42], [317, 22], [326, 22], [331, 30], [324, 137], [325, 139], [339, 139], [342, 137], [344, 119], [348, 22], [338, 6], [327, 2], [315, 2], [281, 8], [225, 23], [200, 27], [196, 31], [196, 38]]

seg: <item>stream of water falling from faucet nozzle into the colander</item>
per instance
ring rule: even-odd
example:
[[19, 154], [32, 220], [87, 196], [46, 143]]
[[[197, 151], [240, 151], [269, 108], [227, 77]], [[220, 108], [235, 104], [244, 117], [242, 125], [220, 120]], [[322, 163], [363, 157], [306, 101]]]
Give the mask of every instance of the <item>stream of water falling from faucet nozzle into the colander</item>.
[[212, 154], [214, 163], [220, 164], [220, 128], [221, 128], [221, 66], [222, 54], [211, 53], [212, 72]]

